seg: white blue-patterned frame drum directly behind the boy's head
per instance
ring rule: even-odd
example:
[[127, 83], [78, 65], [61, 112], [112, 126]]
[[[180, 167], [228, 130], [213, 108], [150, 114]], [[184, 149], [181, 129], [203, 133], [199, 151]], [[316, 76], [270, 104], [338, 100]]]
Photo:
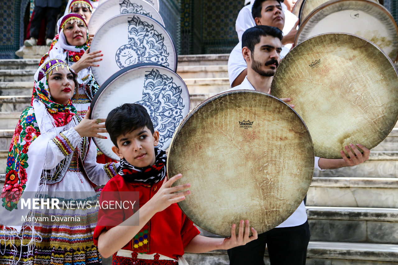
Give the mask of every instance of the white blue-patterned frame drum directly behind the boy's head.
[[[158, 148], [166, 150], [174, 131], [189, 112], [189, 93], [181, 77], [158, 64], [128, 66], [111, 76], [91, 102], [91, 119], [106, 118], [115, 107], [138, 103], [148, 110], [154, 129], [159, 131]], [[98, 149], [119, 160], [108, 139], [94, 138]]]

